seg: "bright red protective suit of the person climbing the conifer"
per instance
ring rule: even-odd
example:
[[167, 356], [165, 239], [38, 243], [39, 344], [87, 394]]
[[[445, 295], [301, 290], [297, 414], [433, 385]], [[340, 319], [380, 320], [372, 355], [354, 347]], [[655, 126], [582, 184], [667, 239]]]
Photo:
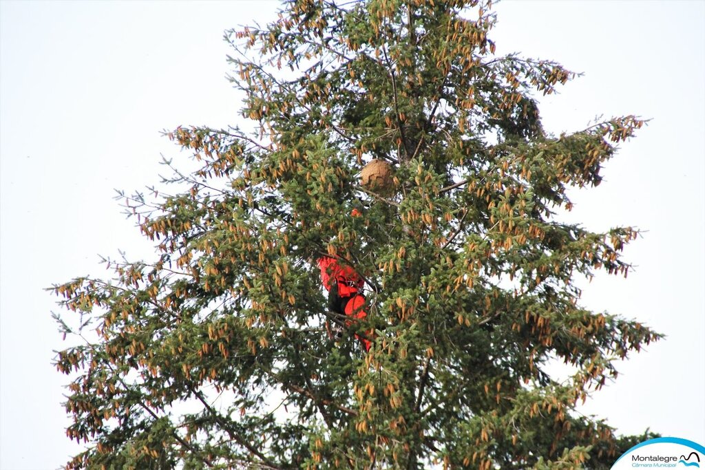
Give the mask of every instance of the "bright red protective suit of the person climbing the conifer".
[[[364, 281], [350, 266], [341, 266], [335, 258], [324, 256], [318, 260], [321, 269], [321, 280], [329, 291], [329, 308], [338, 314], [345, 314], [353, 319], [364, 319], [367, 316], [364, 307], [362, 287]], [[331, 290], [333, 288], [333, 290]], [[353, 320], [345, 321], [350, 326]], [[362, 342], [365, 351], [369, 351], [372, 342], [361, 335], [355, 338]]]

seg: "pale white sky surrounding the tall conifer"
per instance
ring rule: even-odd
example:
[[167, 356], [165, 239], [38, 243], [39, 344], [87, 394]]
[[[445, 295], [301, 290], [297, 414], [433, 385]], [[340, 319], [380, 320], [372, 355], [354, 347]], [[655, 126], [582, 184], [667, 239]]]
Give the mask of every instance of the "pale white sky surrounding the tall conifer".
[[[0, 0], [0, 468], [54, 469], [64, 436], [66, 343], [42, 289], [89, 273], [98, 254], [152, 247], [112, 199], [159, 183], [159, 135], [239, 119], [223, 30], [273, 18], [274, 1]], [[583, 303], [668, 338], [620, 366], [584, 407], [620, 433], [651, 427], [705, 442], [705, 2], [504, 1], [498, 52], [555, 59], [582, 78], [544, 100], [551, 132], [596, 115], [652, 118], [572, 220], [647, 230], [627, 247], [637, 271], [599, 277]], [[185, 155], [182, 155], [185, 158]]]

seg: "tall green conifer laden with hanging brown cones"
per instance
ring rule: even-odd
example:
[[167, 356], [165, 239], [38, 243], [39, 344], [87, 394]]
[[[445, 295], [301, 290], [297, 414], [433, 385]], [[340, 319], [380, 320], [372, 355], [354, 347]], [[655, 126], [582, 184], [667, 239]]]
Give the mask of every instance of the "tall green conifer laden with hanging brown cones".
[[[125, 197], [154, 261], [54, 286], [69, 469], [607, 469], [638, 441], [576, 406], [660, 335], [575, 285], [638, 232], [558, 216], [643, 121], [548, 134], [536, 95], [575, 73], [496, 56], [490, 7], [297, 0], [226, 34], [250, 128], [167, 132], [194, 163]], [[342, 337], [326, 254], [367, 284]]]

